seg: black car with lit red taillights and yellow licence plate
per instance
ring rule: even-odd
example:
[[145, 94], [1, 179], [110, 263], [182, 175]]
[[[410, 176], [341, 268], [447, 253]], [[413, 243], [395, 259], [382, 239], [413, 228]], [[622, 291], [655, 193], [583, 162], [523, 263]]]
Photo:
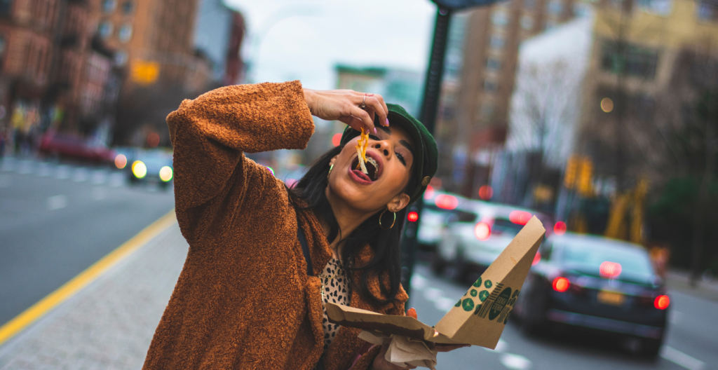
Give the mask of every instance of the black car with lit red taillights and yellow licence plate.
[[514, 313], [526, 333], [555, 323], [638, 338], [655, 357], [670, 299], [648, 252], [615, 239], [566, 233], [546, 239]]

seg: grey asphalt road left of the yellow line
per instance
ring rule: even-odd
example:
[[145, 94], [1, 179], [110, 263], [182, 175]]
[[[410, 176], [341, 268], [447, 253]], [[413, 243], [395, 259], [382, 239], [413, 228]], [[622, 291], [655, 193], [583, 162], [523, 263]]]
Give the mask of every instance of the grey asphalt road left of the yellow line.
[[0, 325], [174, 207], [172, 190], [129, 186], [122, 171], [0, 163]]

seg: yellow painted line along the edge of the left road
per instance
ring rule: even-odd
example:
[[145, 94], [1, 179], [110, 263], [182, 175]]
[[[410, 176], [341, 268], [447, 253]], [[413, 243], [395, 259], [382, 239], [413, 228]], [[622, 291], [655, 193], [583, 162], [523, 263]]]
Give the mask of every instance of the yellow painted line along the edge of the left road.
[[174, 209], [172, 209], [172, 211], [160, 217], [148, 227], [145, 227], [139, 234], [132, 237], [132, 239], [124, 242], [123, 245], [103, 257], [102, 260], [95, 262], [85, 271], [80, 272], [80, 275], [75, 276], [73, 280], [68, 281], [65, 285], [62, 285], [50, 293], [50, 295], [47, 295], [18, 316], [15, 316], [15, 318], [5, 323], [5, 325], [0, 326], [0, 346], [9, 338], [12, 338], [24, 328], [27, 328], [27, 326], [37, 321], [37, 319], [45, 316], [46, 313], [57, 307], [57, 305], [65, 302], [65, 300], [95, 281], [111, 267], [131, 255], [132, 252], [139, 250], [140, 247], [167, 229], [167, 227], [172, 225], [176, 220]]

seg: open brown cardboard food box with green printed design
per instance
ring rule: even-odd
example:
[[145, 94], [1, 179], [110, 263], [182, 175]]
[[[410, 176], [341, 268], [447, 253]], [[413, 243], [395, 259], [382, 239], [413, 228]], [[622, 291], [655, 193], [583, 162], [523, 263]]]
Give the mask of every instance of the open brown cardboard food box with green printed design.
[[[350, 328], [422, 339], [434, 343], [473, 344], [495, 348], [516, 303], [546, 229], [536, 216], [526, 223], [464, 296], [437, 323], [436, 330], [411, 316], [383, 315], [325, 303], [332, 323]], [[435, 332], [439, 335], [435, 336]]]

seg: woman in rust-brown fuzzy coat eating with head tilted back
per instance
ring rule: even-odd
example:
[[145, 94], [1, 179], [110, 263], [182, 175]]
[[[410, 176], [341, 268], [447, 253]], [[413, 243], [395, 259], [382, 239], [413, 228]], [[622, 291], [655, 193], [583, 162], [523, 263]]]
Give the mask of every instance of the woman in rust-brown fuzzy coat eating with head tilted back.
[[[305, 148], [312, 115], [349, 128], [294, 189], [244, 156]], [[322, 303], [404, 315], [398, 239], [437, 169], [426, 128], [379, 95], [298, 81], [223, 87], [167, 124], [190, 251], [144, 369], [401, 369], [328, 323]], [[361, 128], [368, 175], [356, 170]]]

